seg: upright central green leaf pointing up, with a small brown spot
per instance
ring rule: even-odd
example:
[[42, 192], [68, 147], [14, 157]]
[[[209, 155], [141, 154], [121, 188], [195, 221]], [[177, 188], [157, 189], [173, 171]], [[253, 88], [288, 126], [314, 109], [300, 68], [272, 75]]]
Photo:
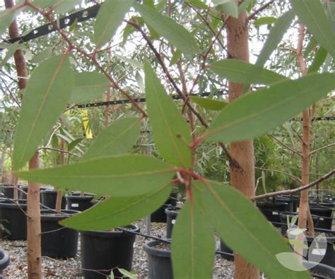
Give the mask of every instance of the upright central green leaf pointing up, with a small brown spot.
[[189, 126], [148, 63], [144, 64], [144, 72], [146, 105], [155, 145], [167, 162], [189, 168], [192, 161]]

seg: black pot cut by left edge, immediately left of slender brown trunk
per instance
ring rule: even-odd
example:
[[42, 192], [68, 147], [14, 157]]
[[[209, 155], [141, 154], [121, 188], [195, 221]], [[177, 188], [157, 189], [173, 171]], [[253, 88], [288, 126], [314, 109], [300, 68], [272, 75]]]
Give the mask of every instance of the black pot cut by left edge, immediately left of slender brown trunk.
[[9, 200], [0, 202], [0, 222], [5, 230], [1, 230], [1, 237], [11, 240], [27, 239], [27, 200], [19, 200], [13, 203]]

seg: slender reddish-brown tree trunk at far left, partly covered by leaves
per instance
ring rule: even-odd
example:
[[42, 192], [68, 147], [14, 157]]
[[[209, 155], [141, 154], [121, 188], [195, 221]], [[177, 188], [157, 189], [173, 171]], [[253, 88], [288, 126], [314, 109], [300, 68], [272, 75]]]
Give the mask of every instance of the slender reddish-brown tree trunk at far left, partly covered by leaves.
[[[13, 0], [4, 0], [6, 8], [14, 6]], [[9, 36], [19, 37], [16, 20], [9, 26]], [[18, 49], [14, 54], [16, 72], [18, 74], [18, 87], [23, 89], [27, 85], [28, 73], [25, 64], [25, 57], [22, 49]], [[22, 77], [22, 78], [20, 78]], [[29, 169], [39, 168], [39, 155], [35, 153], [29, 162]], [[40, 222], [40, 186], [39, 184], [28, 182], [28, 218], [27, 218], [27, 261], [28, 278], [42, 278], [41, 266], [41, 222]]]

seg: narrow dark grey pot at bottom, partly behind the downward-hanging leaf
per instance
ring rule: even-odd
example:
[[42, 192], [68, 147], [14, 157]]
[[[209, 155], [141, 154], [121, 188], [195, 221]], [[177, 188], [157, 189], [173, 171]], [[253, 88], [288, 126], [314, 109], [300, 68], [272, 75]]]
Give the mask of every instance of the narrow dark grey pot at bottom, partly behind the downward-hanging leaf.
[[161, 249], [162, 244], [165, 245], [159, 240], [144, 244], [144, 251], [148, 254], [148, 279], [173, 278], [171, 252], [169, 249]]

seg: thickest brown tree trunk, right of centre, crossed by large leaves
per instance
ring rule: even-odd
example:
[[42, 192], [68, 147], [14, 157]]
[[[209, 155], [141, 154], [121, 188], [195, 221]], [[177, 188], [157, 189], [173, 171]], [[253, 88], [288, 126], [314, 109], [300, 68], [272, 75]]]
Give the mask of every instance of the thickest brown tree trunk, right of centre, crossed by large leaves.
[[[227, 48], [230, 58], [249, 61], [249, 32], [247, 13], [242, 11], [238, 19], [229, 18], [226, 25]], [[229, 101], [242, 95], [243, 84], [229, 82]], [[240, 167], [231, 165], [231, 184], [249, 198], [254, 197], [254, 145], [253, 141], [231, 143], [231, 155]], [[256, 267], [235, 253], [235, 279], [259, 279]]]

